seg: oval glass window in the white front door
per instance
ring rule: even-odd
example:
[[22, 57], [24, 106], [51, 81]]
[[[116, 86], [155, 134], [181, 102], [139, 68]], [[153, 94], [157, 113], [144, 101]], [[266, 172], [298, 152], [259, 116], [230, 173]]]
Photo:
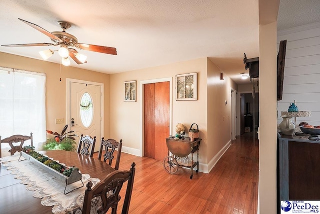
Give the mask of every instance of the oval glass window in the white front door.
[[93, 106], [91, 96], [85, 92], [80, 100], [80, 118], [84, 127], [89, 127], [93, 120]]

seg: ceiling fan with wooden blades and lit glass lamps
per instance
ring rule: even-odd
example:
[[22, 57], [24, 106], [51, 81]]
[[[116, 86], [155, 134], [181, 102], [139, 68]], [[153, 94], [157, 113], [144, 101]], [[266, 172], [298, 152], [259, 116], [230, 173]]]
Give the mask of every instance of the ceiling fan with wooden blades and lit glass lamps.
[[61, 27], [62, 31], [53, 31], [50, 33], [44, 30], [43, 28], [41, 28], [40, 26], [37, 26], [33, 23], [30, 23], [21, 19], [18, 19], [18, 20], [31, 26], [35, 30], [38, 30], [42, 34], [48, 36], [53, 42], [53, 44], [52, 43], [31, 43], [31, 44], [12, 44], [12, 45], [2, 45], [2, 46], [5, 46], [5, 47], [59, 46], [60, 48], [58, 50], [50, 50], [50, 49], [44, 50], [44, 51], [40, 51], [39, 54], [44, 60], [46, 60], [53, 55], [53, 51], [58, 51], [58, 54], [61, 57], [61, 63], [65, 66], [70, 65], [70, 60], [68, 57], [74, 60], [74, 62], [76, 62], [77, 64], [86, 63], [86, 56], [78, 53], [74, 48], [78, 48], [86, 51], [94, 51], [94, 52], [99, 52], [104, 54], [116, 55], [115, 48], [78, 43], [78, 40], [76, 39], [75, 36], [65, 32], [65, 30], [71, 27], [71, 25], [67, 22], [58, 21], [57, 23]]

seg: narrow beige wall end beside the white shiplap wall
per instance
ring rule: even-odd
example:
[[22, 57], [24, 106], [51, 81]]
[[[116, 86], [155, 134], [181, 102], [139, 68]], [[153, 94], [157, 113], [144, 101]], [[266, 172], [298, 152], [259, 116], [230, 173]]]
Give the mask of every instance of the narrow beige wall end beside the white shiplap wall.
[[276, 27], [279, 0], [259, 0], [258, 213], [276, 213]]

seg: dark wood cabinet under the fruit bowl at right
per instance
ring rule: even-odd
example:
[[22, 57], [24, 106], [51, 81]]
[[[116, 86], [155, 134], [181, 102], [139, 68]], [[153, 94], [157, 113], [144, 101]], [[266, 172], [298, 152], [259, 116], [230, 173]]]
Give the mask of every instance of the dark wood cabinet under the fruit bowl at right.
[[320, 141], [278, 134], [279, 200], [320, 200]]

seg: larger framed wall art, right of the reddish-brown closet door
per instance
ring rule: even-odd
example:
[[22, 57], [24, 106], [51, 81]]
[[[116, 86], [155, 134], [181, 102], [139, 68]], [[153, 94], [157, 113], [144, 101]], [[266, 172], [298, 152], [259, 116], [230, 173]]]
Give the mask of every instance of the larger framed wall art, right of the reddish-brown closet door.
[[196, 100], [196, 74], [175, 75], [175, 100]]

